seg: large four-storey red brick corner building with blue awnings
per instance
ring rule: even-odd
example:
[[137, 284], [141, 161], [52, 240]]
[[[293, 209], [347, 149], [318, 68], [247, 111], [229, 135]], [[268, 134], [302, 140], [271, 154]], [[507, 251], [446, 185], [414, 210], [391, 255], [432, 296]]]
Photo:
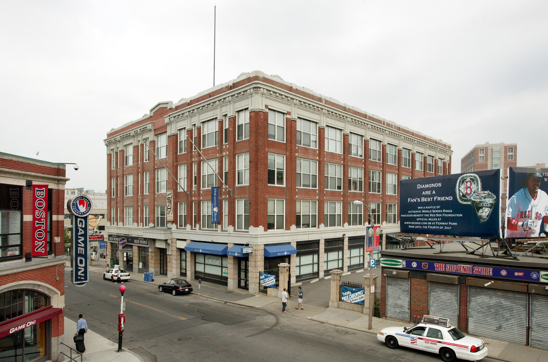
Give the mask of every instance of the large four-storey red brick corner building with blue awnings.
[[448, 174], [452, 155], [443, 141], [259, 71], [158, 103], [110, 130], [105, 146], [110, 262], [250, 294], [262, 291], [259, 272], [284, 262], [292, 283], [363, 268], [370, 218], [383, 248], [399, 231], [399, 180]]

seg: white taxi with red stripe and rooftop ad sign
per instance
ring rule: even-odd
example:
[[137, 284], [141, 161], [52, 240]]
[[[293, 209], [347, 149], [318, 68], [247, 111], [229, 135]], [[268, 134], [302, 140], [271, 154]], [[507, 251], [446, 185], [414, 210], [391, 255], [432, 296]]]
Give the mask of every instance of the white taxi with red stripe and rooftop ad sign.
[[404, 346], [438, 353], [445, 362], [452, 362], [456, 358], [476, 361], [487, 355], [487, 347], [482, 340], [465, 336], [457, 327], [452, 327], [447, 318], [430, 315], [425, 315], [422, 323], [409, 329], [384, 328], [377, 339], [389, 348]]

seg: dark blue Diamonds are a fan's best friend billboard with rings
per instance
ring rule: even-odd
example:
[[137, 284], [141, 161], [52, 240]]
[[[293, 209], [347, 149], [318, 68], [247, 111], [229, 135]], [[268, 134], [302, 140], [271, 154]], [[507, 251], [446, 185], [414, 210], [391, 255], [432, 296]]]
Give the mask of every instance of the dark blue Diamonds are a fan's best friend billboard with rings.
[[402, 233], [500, 238], [500, 169], [400, 181]]

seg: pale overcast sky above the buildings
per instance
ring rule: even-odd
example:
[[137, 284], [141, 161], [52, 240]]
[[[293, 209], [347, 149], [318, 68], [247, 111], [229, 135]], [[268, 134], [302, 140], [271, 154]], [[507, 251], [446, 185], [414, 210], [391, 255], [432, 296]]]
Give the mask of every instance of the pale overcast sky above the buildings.
[[[111, 128], [213, 86], [214, 5], [0, 0], [0, 152], [105, 191]], [[545, 0], [216, 2], [215, 84], [254, 70], [450, 143], [452, 173], [486, 142], [548, 161]]]

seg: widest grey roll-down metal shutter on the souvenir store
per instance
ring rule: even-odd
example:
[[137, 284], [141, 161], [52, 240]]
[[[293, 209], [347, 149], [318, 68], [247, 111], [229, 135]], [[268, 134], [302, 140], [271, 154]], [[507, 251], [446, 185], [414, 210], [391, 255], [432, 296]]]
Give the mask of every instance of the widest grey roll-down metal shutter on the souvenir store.
[[470, 286], [468, 332], [494, 340], [526, 344], [527, 293]]

